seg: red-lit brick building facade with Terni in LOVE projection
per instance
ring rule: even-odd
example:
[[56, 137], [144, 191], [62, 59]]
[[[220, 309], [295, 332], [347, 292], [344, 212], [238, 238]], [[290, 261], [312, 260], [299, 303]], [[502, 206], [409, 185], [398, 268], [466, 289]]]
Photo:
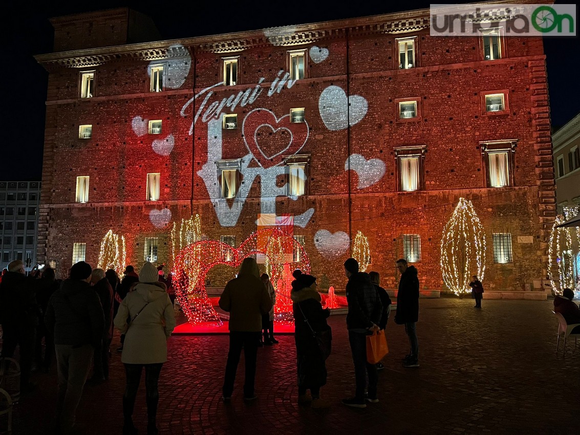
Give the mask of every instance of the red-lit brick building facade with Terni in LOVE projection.
[[383, 287], [407, 256], [423, 289], [445, 291], [441, 233], [465, 197], [485, 229], [486, 288], [541, 288], [555, 210], [541, 38], [430, 37], [428, 10], [179, 41], [83, 36], [127, 16], [53, 20], [68, 39], [37, 56], [38, 255], [61, 273], [74, 244], [96, 264], [110, 229], [140, 266], [171, 263], [172, 224], [195, 213], [206, 238], [236, 246], [260, 215], [293, 216], [312, 273], [335, 288], [360, 230]]

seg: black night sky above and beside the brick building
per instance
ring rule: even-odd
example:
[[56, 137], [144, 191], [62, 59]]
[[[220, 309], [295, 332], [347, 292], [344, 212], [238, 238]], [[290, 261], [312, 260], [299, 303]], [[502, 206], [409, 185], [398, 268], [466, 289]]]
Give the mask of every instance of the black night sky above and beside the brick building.
[[[77, 5], [27, 2], [3, 9], [2, 45], [5, 62], [1, 69], [2, 153], [1, 180], [40, 180], [44, 142], [46, 82], [48, 74], [33, 55], [52, 52], [53, 29], [49, 18], [127, 6], [153, 18], [163, 39], [213, 35], [264, 27], [316, 23], [357, 16], [429, 8], [428, 2], [338, 0], [274, 2], [200, 1], [93, 1]], [[40, 3], [40, 2], [39, 2]], [[538, 2], [539, 3], [539, 2]], [[580, 112], [580, 41], [575, 38], [545, 38], [553, 129]]]

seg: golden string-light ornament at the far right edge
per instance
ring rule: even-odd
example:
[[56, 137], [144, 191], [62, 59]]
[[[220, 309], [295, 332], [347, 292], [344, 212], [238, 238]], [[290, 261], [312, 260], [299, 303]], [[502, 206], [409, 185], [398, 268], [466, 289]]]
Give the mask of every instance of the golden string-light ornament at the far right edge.
[[580, 282], [575, 276], [580, 272], [580, 227], [557, 228], [566, 220], [578, 215], [579, 207], [564, 207], [564, 215], [556, 217], [550, 233], [548, 246], [548, 268], [550, 284], [555, 295], [561, 295], [565, 288], [580, 290]]

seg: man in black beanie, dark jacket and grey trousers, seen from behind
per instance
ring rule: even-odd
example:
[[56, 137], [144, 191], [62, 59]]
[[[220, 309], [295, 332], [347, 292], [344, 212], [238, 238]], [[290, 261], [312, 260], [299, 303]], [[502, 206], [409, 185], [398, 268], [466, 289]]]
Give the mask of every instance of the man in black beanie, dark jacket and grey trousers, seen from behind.
[[61, 432], [71, 432], [75, 411], [89, 374], [93, 350], [100, 345], [104, 314], [97, 293], [90, 288], [92, 269], [85, 262], [71, 267], [70, 278], [63, 281], [48, 302], [46, 328], [55, 338], [59, 373], [57, 424]]

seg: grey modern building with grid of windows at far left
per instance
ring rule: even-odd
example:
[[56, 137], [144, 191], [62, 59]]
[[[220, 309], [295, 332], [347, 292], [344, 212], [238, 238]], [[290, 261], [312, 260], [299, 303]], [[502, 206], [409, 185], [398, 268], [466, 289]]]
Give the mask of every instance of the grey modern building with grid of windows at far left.
[[40, 182], [0, 182], [2, 268], [22, 260], [29, 271], [37, 263]]

